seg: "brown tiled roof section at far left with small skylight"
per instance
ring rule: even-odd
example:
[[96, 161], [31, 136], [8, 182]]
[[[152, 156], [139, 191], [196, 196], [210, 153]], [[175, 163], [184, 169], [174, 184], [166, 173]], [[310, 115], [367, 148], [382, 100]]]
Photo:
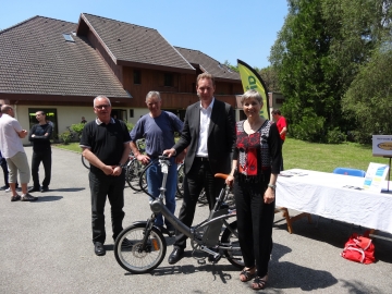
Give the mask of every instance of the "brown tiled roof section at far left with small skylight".
[[76, 24], [35, 16], [0, 32], [0, 93], [130, 98]]

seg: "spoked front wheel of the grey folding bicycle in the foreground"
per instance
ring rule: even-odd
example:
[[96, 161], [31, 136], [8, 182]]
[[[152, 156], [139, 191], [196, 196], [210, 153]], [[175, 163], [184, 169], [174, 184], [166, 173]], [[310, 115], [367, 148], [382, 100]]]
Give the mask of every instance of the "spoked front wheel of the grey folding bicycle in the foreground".
[[[119, 265], [133, 273], [145, 273], [157, 268], [163, 260], [167, 243], [162, 233], [152, 228], [147, 243], [143, 246], [146, 224], [137, 223], [124, 229], [114, 243], [114, 256]], [[124, 240], [130, 246], [122, 246]]]

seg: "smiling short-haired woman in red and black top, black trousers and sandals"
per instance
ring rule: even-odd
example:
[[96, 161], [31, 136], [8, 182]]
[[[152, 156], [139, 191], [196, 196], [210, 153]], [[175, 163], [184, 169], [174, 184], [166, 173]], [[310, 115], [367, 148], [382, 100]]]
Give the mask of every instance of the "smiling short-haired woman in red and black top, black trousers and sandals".
[[282, 160], [282, 144], [275, 123], [259, 115], [262, 98], [254, 89], [241, 98], [247, 119], [236, 123], [232, 171], [225, 180], [234, 184], [238, 241], [245, 268], [240, 280], [254, 277], [252, 289], [261, 290], [268, 280], [272, 250], [275, 183]]

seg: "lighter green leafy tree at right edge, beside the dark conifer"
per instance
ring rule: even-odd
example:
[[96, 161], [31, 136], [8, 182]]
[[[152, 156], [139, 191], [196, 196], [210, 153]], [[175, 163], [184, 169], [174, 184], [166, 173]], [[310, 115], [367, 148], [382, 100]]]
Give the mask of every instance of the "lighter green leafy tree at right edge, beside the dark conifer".
[[385, 125], [391, 117], [383, 115], [391, 105], [391, 0], [323, 1], [323, 16], [334, 36], [330, 57], [342, 81], [342, 114], [354, 122], [345, 131], [362, 143], [391, 131]]

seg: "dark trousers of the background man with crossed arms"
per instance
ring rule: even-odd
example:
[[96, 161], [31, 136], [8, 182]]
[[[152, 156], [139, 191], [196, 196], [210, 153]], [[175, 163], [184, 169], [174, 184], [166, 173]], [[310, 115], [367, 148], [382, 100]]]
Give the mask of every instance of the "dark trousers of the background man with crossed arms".
[[32, 158], [32, 176], [34, 187], [39, 188], [39, 164], [42, 162], [45, 170], [45, 177], [42, 181], [42, 186], [48, 187], [50, 184], [51, 177], [51, 149], [44, 151], [33, 151]]

